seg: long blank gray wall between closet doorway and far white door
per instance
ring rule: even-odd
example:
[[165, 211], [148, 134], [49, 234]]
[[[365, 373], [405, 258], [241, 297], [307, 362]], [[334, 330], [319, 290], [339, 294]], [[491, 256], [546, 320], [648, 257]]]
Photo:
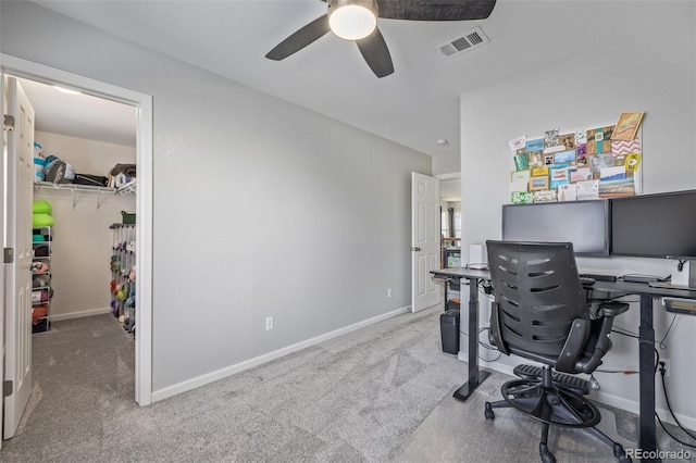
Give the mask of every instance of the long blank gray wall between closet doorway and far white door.
[[153, 96], [156, 392], [410, 304], [410, 172], [430, 157], [35, 4], [0, 8], [2, 52]]

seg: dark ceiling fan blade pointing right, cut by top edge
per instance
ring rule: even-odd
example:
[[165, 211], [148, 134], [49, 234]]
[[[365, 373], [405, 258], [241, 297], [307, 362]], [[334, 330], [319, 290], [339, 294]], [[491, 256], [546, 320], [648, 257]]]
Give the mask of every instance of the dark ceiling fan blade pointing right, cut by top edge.
[[490, 15], [496, 0], [378, 0], [380, 17], [408, 21], [471, 21]]

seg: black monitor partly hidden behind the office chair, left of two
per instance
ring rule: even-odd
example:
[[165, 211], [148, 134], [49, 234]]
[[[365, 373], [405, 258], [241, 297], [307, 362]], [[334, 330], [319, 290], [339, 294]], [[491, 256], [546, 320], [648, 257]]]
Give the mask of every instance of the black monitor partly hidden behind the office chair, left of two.
[[502, 205], [506, 241], [572, 242], [575, 255], [609, 255], [609, 201]]

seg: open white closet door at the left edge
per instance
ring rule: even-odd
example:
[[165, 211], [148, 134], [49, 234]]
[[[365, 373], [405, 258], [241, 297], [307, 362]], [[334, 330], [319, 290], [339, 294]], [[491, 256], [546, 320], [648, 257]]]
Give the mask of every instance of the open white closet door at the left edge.
[[5, 264], [4, 380], [12, 393], [4, 400], [2, 437], [9, 439], [32, 392], [32, 187], [34, 182], [34, 109], [13, 77], [3, 75], [7, 91], [4, 114], [14, 117], [7, 132], [7, 185], [4, 195], [5, 248], [14, 261]]

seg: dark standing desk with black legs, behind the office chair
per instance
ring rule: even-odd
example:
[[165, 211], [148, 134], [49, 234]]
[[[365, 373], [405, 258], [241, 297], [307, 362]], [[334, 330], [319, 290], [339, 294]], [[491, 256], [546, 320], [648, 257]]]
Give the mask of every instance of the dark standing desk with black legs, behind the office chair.
[[[469, 268], [442, 268], [431, 274], [439, 279], [464, 278], [469, 281], [469, 383], [455, 397], [465, 400], [488, 376], [478, 371], [478, 283], [490, 280], [487, 271]], [[655, 426], [655, 329], [652, 328], [652, 299], [663, 297], [696, 299], [696, 291], [672, 288], [654, 288], [647, 283], [597, 280], [587, 289], [619, 295], [636, 295], [641, 298], [638, 325], [638, 448], [645, 452], [657, 450]], [[473, 347], [472, 347], [473, 345]], [[461, 392], [460, 392], [461, 391]]]

